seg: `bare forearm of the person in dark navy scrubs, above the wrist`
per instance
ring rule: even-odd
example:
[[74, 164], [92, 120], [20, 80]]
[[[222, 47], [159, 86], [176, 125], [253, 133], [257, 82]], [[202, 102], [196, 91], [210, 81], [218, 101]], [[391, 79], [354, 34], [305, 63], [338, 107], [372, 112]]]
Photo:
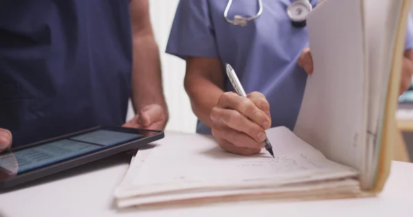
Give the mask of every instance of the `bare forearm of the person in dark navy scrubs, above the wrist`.
[[152, 34], [134, 36], [131, 100], [136, 113], [149, 104], [167, 104], [162, 89], [162, 73], [158, 45]]

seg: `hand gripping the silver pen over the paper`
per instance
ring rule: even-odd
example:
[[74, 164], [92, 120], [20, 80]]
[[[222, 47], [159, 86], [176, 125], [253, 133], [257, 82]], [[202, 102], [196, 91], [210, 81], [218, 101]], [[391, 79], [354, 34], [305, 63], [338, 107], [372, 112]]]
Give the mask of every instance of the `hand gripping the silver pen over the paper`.
[[254, 155], [263, 148], [265, 130], [271, 127], [270, 104], [259, 92], [241, 97], [233, 92], [220, 96], [210, 114], [211, 130], [219, 146], [238, 155]]

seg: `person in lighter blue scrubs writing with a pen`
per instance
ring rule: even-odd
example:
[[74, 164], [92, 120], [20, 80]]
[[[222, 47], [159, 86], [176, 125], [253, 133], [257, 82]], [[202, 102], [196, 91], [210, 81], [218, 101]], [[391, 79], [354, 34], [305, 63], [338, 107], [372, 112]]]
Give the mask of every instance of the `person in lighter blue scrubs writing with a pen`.
[[[313, 63], [306, 27], [293, 26], [286, 14], [292, 2], [262, 1], [262, 15], [243, 27], [224, 19], [226, 0], [178, 4], [166, 52], [187, 62], [184, 87], [199, 119], [197, 133], [212, 133], [224, 150], [253, 155], [262, 149], [264, 130], [295, 126]], [[310, 3], [316, 7], [317, 0]], [[258, 10], [256, 0], [233, 1], [228, 18], [255, 16]], [[412, 34], [407, 39], [411, 48]], [[406, 56], [405, 74], [411, 78], [412, 56]], [[237, 72], [249, 100], [232, 92], [225, 62]]]

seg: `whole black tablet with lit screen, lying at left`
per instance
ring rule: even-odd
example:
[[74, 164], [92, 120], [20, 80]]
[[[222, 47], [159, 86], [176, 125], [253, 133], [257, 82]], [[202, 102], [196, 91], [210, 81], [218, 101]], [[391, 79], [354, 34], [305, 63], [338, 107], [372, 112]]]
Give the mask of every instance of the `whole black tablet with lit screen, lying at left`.
[[164, 137], [163, 131], [97, 126], [0, 152], [0, 190], [120, 152]]

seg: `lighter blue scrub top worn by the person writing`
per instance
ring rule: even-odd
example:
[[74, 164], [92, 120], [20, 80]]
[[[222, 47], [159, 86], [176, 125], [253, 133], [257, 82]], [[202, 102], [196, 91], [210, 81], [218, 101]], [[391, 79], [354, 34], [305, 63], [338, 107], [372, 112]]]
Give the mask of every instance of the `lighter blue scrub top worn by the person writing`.
[[[286, 14], [293, 1], [263, 0], [262, 15], [241, 27], [224, 19], [226, 0], [181, 0], [166, 52], [180, 58], [220, 58], [222, 65], [229, 62], [247, 93], [260, 91], [266, 96], [272, 126], [293, 130], [307, 78], [304, 69], [297, 65], [297, 58], [308, 47], [306, 27], [293, 27]], [[311, 4], [315, 7], [317, 0]], [[251, 17], [258, 10], [257, 0], [237, 0], [233, 1], [228, 17]], [[407, 47], [412, 47], [411, 31], [412, 28]], [[224, 91], [233, 91], [227, 78]], [[197, 132], [211, 134], [210, 128], [200, 121]]]

